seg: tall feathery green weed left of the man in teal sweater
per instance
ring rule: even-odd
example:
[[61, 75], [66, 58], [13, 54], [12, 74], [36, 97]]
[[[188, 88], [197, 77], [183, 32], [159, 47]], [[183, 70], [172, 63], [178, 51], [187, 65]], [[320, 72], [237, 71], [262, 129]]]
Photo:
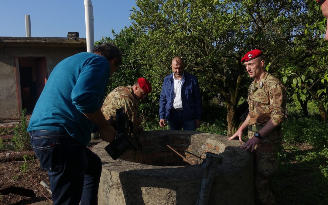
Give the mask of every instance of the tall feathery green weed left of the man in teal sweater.
[[26, 109], [21, 110], [21, 122], [12, 129], [13, 137], [11, 143], [14, 146], [15, 151], [29, 151], [32, 150], [30, 144], [30, 136], [26, 131], [28, 127], [26, 119]]

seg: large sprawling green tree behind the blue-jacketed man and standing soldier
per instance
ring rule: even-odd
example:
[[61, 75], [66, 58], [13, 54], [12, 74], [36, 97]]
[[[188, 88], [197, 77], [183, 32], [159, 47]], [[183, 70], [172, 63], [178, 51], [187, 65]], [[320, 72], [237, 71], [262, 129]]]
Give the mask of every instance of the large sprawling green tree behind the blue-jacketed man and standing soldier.
[[114, 39], [97, 42], [113, 40], [123, 54], [123, 65], [111, 78], [108, 91], [141, 76], [149, 79], [153, 91], [140, 111], [151, 117], [158, 112], [159, 93], [164, 77], [171, 73], [171, 61], [181, 56], [186, 71], [198, 77], [203, 98], [220, 93], [225, 100], [231, 111], [227, 113], [228, 134], [236, 130], [234, 111], [251, 81], [240, 63], [244, 53], [261, 49], [266, 69], [276, 73], [295, 37], [303, 33], [300, 30], [306, 24], [302, 22], [310, 12], [305, 0], [137, 0], [136, 6], [131, 27], [112, 31]]

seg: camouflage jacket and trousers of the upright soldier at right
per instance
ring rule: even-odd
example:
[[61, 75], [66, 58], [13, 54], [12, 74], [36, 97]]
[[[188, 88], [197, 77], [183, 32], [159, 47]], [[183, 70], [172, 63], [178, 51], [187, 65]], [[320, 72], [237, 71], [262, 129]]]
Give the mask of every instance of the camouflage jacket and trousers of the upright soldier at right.
[[[249, 125], [264, 126], [270, 119], [281, 125], [286, 117], [286, 88], [276, 77], [265, 72], [257, 84], [256, 80], [251, 84], [248, 103]], [[248, 131], [248, 138], [252, 138], [254, 133]], [[262, 137], [254, 151], [256, 204], [277, 204], [271, 178], [277, 171], [277, 152], [282, 134], [275, 129]]]

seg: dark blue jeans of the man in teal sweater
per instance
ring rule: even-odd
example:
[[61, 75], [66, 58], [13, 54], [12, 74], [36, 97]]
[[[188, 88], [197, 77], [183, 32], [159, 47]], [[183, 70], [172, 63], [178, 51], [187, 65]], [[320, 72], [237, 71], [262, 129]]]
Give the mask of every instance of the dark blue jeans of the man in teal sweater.
[[101, 159], [66, 132], [32, 131], [31, 145], [48, 171], [53, 204], [98, 203]]

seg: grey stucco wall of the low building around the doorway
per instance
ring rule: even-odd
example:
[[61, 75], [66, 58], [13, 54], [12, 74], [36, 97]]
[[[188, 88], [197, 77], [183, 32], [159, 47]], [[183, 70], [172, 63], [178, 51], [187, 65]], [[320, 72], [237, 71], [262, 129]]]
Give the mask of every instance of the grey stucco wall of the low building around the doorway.
[[[15, 57], [46, 57], [47, 73], [64, 58], [86, 51], [72, 47], [0, 47], [0, 119], [18, 117], [18, 100], [15, 75]], [[18, 65], [17, 65], [18, 67]]]

